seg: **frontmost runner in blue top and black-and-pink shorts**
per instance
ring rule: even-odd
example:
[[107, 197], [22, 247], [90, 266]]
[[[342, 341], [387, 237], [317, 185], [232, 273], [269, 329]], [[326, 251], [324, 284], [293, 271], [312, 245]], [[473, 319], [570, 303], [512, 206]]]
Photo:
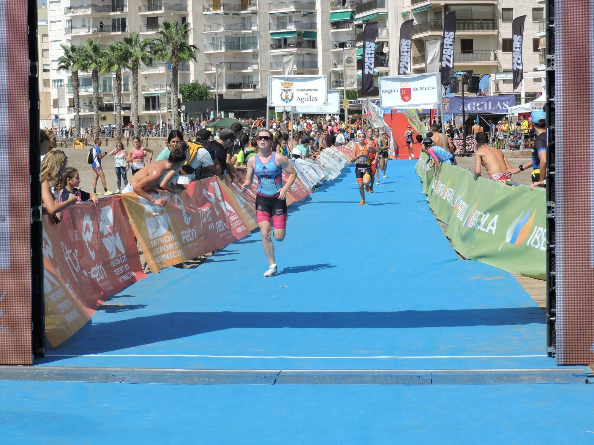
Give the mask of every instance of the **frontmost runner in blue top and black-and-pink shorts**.
[[[241, 186], [242, 192], [248, 189], [255, 176], [258, 178], [256, 196], [256, 220], [262, 234], [262, 247], [270, 268], [264, 276], [274, 276], [278, 268], [274, 259], [274, 244], [271, 238], [270, 220], [274, 228], [274, 239], [282, 241], [287, 234], [287, 191], [297, 179], [293, 166], [282, 154], [272, 151], [273, 135], [268, 130], [258, 133], [257, 141], [260, 152], [248, 160], [248, 170]], [[283, 170], [289, 173], [287, 183], [283, 185]]]

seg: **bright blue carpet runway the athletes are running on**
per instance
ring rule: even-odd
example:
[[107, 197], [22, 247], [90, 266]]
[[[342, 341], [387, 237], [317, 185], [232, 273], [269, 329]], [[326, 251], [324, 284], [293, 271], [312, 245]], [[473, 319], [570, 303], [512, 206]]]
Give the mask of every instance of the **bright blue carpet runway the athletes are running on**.
[[[413, 161], [375, 189], [358, 206], [347, 168], [291, 206], [274, 278], [254, 233], [111, 298], [27, 368], [43, 375], [0, 376], [3, 440], [594, 443], [594, 387], [546, 357], [543, 311], [508, 272], [459, 259]], [[198, 370], [227, 371], [188, 384]], [[480, 384], [510, 372], [527, 384]]]

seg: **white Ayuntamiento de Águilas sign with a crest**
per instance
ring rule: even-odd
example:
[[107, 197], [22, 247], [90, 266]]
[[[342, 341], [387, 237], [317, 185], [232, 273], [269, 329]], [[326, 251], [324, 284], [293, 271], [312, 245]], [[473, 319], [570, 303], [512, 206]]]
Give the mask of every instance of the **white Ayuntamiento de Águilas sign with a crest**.
[[320, 107], [326, 106], [328, 77], [268, 76], [268, 106]]

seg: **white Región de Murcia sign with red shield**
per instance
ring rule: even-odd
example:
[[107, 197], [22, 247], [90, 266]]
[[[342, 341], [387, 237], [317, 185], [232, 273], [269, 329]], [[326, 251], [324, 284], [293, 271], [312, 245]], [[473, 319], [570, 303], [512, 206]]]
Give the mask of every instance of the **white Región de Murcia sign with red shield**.
[[381, 108], [437, 108], [441, 84], [437, 73], [378, 77]]

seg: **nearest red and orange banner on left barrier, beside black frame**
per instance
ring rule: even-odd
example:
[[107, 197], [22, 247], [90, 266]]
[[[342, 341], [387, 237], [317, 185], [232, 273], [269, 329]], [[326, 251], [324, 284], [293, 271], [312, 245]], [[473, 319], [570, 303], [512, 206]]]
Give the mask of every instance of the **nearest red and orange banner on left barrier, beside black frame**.
[[119, 196], [68, 207], [43, 221], [46, 336], [56, 347], [103, 301], [146, 275]]

